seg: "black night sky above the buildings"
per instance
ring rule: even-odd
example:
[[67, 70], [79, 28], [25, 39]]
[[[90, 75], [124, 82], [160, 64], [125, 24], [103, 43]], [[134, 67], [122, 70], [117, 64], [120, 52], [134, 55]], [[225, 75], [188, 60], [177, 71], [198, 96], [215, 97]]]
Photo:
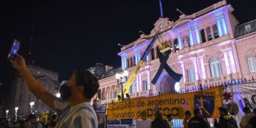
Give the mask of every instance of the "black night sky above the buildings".
[[[162, 0], [164, 17], [179, 19], [177, 8], [189, 15], [217, 0]], [[230, 0], [240, 23], [256, 19], [253, 1]], [[154, 28], [160, 17], [158, 0], [122, 1], [10, 1], [1, 3], [0, 96], [10, 92], [15, 70], [6, 59], [13, 39], [27, 61], [52, 69], [68, 79], [77, 68], [104, 63], [121, 66], [120, 46], [129, 44]], [[33, 29], [34, 28], [34, 29]], [[33, 29], [33, 31], [32, 31]], [[33, 35], [33, 42], [31, 42]], [[31, 55], [28, 55], [31, 47]]]

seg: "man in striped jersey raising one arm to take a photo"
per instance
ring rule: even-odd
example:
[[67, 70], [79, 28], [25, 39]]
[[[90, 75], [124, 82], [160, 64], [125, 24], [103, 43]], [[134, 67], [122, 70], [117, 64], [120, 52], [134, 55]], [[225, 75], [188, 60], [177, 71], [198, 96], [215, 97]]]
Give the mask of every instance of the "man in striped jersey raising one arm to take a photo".
[[97, 116], [90, 102], [98, 92], [99, 83], [91, 72], [86, 70], [74, 72], [68, 83], [61, 86], [62, 99], [58, 99], [32, 76], [22, 56], [17, 54], [15, 60], [10, 61], [26, 81], [29, 90], [58, 112], [60, 120], [56, 127], [98, 127]]

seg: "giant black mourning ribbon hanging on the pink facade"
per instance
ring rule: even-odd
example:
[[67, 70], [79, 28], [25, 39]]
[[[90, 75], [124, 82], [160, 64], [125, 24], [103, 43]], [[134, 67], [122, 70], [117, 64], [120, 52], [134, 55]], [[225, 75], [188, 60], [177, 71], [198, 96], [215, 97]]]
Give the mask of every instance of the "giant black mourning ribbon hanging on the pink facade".
[[172, 68], [170, 68], [166, 61], [169, 58], [169, 54], [171, 53], [171, 50], [165, 51], [164, 54], [161, 53], [159, 51], [159, 49], [157, 49], [157, 56], [159, 57], [159, 61], [160, 61], [160, 66], [157, 70], [156, 76], [154, 77], [154, 79], [151, 81], [152, 84], [156, 84], [157, 79], [159, 78], [159, 76], [161, 75], [163, 69], [166, 70], [166, 72], [173, 78], [174, 81], [178, 82], [180, 81], [182, 74], [177, 74], [176, 72], [174, 72], [172, 70]]

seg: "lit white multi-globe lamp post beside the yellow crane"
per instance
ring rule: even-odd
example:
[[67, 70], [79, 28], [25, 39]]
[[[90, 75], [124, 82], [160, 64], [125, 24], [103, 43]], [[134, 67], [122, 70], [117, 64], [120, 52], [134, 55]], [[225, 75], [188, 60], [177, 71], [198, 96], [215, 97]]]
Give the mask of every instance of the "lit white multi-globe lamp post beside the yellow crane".
[[122, 97], [122, 101], [124, 101], [124, 90], [123, 90], [123, 84], [127, 81], [127, 77], [128, 77], [129, 72], [127, 70], [124, 70], [124, 72], [122, 72], [121, 74], [116, 74], [116, 80], [118, 84], [121, 84], [121, 97]]

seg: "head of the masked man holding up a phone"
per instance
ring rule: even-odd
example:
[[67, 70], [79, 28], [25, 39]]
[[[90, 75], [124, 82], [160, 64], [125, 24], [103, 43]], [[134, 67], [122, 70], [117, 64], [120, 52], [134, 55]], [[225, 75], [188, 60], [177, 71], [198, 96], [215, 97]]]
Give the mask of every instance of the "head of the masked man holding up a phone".
[[87, 70], [76, 70], [68, 83], [60, 87], [60, 94], [63, 100], [77, 100], [77, 98], [91, 100], [98, 92], [99, 82], [91, 72]]

